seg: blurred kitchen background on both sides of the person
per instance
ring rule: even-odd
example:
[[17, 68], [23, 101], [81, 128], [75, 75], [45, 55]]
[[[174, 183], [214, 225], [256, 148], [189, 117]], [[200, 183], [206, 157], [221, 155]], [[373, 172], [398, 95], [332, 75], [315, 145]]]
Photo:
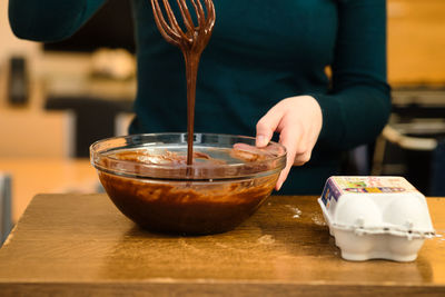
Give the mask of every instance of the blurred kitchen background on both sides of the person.
[[[445, 1], [388, 0], [393, 115], [344, 175], [406, 177], [445, 196]], [[72, 38], [17, 39], [0, 2], [0, 242], [40, 192], [96, 192], [89, 145], [127, 133], [136, 93], [130, 6], [110, 0]]]

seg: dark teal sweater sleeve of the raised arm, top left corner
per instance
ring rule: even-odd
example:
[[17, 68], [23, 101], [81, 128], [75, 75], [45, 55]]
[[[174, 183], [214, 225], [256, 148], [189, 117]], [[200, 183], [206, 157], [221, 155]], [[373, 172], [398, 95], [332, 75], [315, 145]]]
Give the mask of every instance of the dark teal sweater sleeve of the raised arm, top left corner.
[[34, 41], [72, 36], [107, 0], [9, 0], [13, 33]]

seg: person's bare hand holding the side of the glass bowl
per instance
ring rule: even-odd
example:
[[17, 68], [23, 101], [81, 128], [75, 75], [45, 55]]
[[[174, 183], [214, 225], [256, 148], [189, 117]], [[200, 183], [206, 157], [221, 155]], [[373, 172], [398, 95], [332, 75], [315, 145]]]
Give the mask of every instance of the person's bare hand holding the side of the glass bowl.
[[278, 178], [276, 190], [281, 188], [293, 165], [301, 166], [310, 159], [322, 125], [322, 108], [312, 96], [286, 98], [258, 121], [257, 147], [267, 146], [274, 132], [279, 132], [279, 142], [287, 149], [286, 167]]

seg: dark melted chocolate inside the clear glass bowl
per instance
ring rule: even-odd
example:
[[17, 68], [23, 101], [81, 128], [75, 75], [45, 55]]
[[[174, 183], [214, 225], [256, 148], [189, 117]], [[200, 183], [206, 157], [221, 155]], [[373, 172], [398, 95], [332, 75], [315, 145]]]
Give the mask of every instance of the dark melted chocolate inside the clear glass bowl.
[[[258, 160], [260, 157], [239, 150], [230, 156]], [[195, 154], [205, 165], [218, 165], [222, 160], [206, 154]], [[112, 154], [113, 159], [137, 165], [164, 165], [175, 168], [186, 166], [185, 157], [165, 151], [155, 156], [146, 150]], [[224, 162], [224, 161], [222, 161]], [[194, 167], [198, 167], [196, 162]], [[101, 166], [110, 168], [107, 159]], [[249, 162], [246, 166], [250, 166]], [[216, 166], [218, 167], [218, 166]], [[224, 181], [156, 180], [129, 178], [98, 170], [99, 179], [108, 196], [120, 211], [142, 228], [151, 231], [184, 235], [205, 235], [230, 230], [244, 221], [271, 192], [278, 174]]]

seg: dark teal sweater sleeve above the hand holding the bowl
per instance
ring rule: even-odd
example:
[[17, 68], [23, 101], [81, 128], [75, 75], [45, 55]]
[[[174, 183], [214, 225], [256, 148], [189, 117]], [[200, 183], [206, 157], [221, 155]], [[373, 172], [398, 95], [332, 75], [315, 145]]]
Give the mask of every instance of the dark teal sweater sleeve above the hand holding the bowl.
[[328, 93], [322, 107], [318, 146], [349, 149], [372, 142], [390, 112], [386, 82], [386, 1], [339, 0], [338, 32]]

